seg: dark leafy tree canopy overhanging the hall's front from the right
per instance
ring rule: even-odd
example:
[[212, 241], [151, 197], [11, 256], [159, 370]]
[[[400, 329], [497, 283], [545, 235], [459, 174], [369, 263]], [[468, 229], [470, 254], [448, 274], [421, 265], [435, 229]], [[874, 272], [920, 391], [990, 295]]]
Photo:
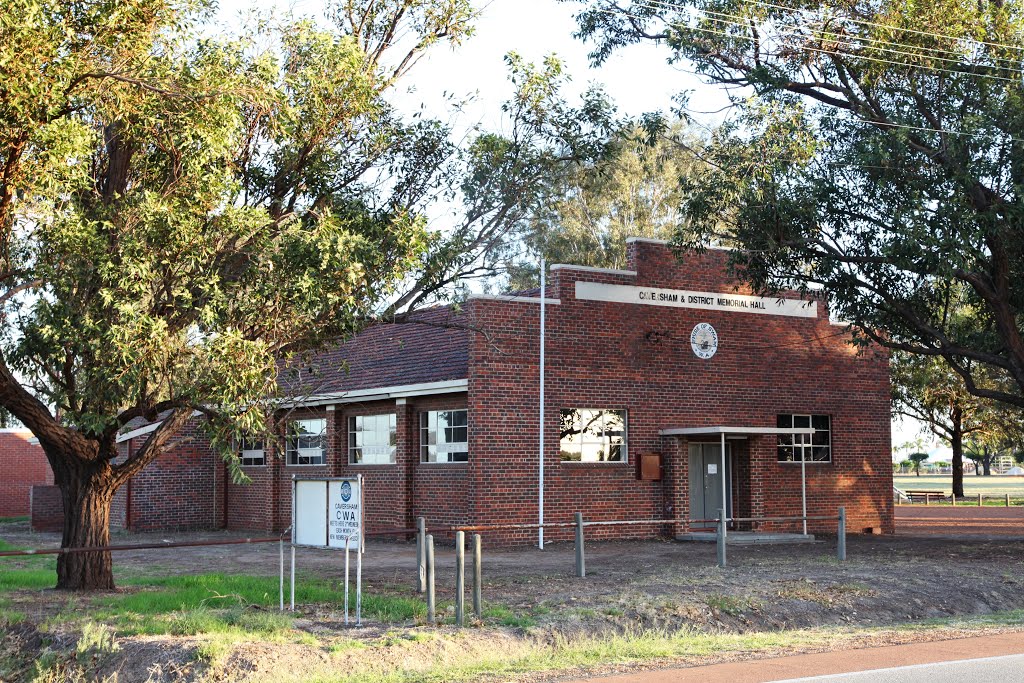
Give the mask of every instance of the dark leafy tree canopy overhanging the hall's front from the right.
[[861, 339], [1024, 407], [1024, 3], [591, 0], [579, 24], [596, 62], [652, 42], [730, 93], [681, 248], [743, 247], [758, 290], [826, 291]]

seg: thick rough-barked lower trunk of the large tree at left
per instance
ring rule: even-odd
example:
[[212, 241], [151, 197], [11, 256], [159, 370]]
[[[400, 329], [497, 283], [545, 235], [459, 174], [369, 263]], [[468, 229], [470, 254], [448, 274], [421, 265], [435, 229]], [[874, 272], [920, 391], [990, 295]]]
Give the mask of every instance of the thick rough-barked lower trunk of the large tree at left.
[[[116, 490], [108, 462], [67, 463], [54, 479], [60, 486], [65, 519], [62, 548], [96, 548], [111, 541], [111, 501]], [[114, 562], [110, 551], [57, 556], [57, 589], [111, 590]]]

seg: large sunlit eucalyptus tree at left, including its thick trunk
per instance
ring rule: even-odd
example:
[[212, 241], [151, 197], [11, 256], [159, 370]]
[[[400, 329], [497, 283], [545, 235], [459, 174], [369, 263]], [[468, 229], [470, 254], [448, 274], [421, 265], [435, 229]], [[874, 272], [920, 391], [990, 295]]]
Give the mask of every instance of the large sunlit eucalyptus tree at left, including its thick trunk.
[[[0, 10], [0, 407], [46, 453], [66, 547], [108, 545], [115, 492], [197, 413], [237, 465], [232, 436], [272, 428], [282, 361], [489, 267], [545, 169], [599, 151], [611, 116], [596, 95], [573, 112], [552, 59], [513, 62], [505, 136], [463, 150], [402, 117], [389, 93], [470, 34], [467, 0], [339, 0], [329, 27], [212, 38], [205, 10]], [[118, 458], [139, 419], [159, 426]], [[113, 585], [109, 552], [58, 559], [58, 588]]]

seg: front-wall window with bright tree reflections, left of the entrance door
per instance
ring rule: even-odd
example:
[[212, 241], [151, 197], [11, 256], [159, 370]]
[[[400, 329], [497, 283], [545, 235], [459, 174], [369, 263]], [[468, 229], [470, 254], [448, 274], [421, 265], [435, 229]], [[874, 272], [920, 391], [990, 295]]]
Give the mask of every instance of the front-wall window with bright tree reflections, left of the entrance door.
[[626, 411], [562, 409], [559, 453], [566, 462], [625, 463]]

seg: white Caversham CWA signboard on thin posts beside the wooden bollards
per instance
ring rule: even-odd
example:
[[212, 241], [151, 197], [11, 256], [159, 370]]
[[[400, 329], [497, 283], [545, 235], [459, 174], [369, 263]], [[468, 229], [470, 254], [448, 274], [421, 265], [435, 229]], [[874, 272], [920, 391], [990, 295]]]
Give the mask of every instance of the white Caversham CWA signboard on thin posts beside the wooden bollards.
[[293, 479], [292, 544], [362, 548], [362, 477]]

